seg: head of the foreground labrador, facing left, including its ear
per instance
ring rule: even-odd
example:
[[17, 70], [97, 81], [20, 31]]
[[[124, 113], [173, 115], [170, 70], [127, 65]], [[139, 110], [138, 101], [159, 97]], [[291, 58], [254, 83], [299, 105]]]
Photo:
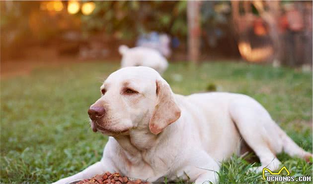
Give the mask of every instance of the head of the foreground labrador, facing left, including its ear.
[[100, 91], [101, 97], [88, 110], [94, 132], [118, 136], [143, 129], [157, 135], [180, 117], [169, 85], [149, 67], [117, 70]]

